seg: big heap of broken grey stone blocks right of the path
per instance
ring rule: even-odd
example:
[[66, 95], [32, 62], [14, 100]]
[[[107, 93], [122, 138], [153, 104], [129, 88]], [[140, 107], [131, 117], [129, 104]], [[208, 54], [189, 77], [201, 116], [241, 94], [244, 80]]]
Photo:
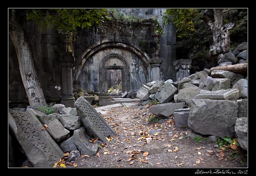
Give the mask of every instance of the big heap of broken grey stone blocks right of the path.
[[[218, 64], [244, 63], [247, 59], [244, 42], [225, 54]], [[204, 69], [177, 82], [157, 80], [142, 85], [137, 98], [158, 100], [161, 104], [153, 105], [149, 111], [159, 118], [174, 115], [177, 127], [188, 126], [195, 134], [210, 138], [237, 137], [247, 151], [247, 77], [244, 75]]]

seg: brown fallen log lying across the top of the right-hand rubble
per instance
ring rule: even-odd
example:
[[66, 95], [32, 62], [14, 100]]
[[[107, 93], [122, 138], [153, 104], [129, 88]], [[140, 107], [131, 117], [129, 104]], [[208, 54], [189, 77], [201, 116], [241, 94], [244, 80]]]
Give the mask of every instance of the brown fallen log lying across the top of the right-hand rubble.
[[238, 73], [242, 75], [247, 75], [247, 63], [238, 63], [235, 65], [226, 65], [226, 66], [220, 66], [220, 67], [212, 67], [210, 69], [210, 72], [213, 70], [225, 70], [225, 71], [231, 71], [233, 73]]

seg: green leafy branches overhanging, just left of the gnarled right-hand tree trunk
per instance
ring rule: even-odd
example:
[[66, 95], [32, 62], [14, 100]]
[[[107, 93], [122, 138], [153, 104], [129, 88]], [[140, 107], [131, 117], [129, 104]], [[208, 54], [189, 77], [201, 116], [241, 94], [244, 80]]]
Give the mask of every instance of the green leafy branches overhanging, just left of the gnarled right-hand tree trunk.
[[192, 36], [196, 32], [194, 23], [199, 20], [199, 12], [199, 9], [167, 9], [162, 16], [163, 24], [175, 25], [179, 38]]

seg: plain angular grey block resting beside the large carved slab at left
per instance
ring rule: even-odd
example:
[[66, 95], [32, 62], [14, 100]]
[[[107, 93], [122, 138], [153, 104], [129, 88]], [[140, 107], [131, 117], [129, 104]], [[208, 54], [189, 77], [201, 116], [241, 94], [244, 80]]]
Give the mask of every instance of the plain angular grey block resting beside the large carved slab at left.
[[48, 123], [48, 128], [46, 128], [49, 134], [56, 140], [57, 142], [63, 141], [69, 138], [69, 130], [64, 128], [64, 126], [58, 121], [54, 119], [50, 123]]

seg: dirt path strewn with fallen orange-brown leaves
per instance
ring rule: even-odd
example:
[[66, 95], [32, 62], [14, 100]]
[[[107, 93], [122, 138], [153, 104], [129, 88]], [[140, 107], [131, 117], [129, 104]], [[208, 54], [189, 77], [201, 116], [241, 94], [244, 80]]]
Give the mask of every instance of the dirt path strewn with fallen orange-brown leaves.
[[[97, 155], [81, 155], [73, 161], [66, 161], [66, 167], [248, 167], [247, 152], [240, 147], [237, 151], [222, 151], [213, 147], [215, 143], [207, 138], [196, 142], [186, 137], [189, 128], [175, 127], [172, 117], [152, 120], [149, 106], [137, 104], [110, 109], [102, 116], [118, 136], [111, 136], [109, 142], [101, 143]], [[98, 145], [97, 142], [95, 145]]]

